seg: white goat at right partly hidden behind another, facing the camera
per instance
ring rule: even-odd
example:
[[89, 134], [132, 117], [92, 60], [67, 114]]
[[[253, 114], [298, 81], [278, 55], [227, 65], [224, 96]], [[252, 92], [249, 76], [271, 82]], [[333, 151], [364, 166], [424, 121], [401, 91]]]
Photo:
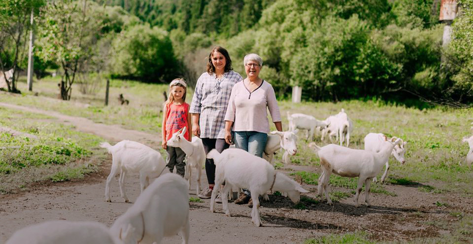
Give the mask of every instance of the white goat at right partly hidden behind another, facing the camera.
[[[381, 137], [380, 137], [381, 136]], [[384, 134], [382, 133], [369, 133], [368, 135], [365, 136], [365, 150], [370, 150], [373, 152], [379, 152], [381, 150], [381, 143], [383, 142]], [[397, 137], [393, 138], [388, 138], [388, 140], [393, 140], [396, 139]], [[404, 154], [406, 152], [406, 144], [407, 141], [403, 141], [401, 139], [401, 143], [399, 145], [394, 146], [393, 152], [391, 153], [394, 158], [396, 158], [399, 163], [404, 164], [406, 160], [404, 159]], [[386, 161], [386, 169], [381, 176], [381, 183], [383, 183], [386, 179], [387, 176], [387, 171], [389, 170], [389, 159]], [[373, 182], [377, 182], [376, 177], [373, 178]]]

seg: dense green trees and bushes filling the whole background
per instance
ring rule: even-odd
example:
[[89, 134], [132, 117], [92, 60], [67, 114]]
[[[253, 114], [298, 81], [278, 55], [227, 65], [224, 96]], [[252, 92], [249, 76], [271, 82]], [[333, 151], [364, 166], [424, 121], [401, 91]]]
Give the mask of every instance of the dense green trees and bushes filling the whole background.
[[[61, 40], [67, 52], [49, 52], [57, 46], [49, 39], [38, 50], [47, 53], [40, 55], [43, 63], [60, 65], [64, 59], [52, 56], [61, 53], [84, 60], [82, 73], [150, 82], [184, 76], [192, 86], [205, 71], [210, 46], [222, 45], [243, 76], [245, 54], [262, 56], [261, 76], [280, 98], [298, 85], [309, 101], [420, 98], [461, 105], [473, 98], [472, 3], [459, 3], [464, 14], [452, 25], [452, 44], [443, 48], [439, 0], [96, 0], [87, 2], [87, 19], [80, 18], [82, 2], [73, 1], [79, 8], [70, 16], [76, 17], [65, 19], [85, 21], [79, 26], [87, 30], [86, 48]], [[43, 17], [68, 16], [58, 15], [46, 11]], [[57, 30], [40, 33], [61, 39], [65, 34]]]

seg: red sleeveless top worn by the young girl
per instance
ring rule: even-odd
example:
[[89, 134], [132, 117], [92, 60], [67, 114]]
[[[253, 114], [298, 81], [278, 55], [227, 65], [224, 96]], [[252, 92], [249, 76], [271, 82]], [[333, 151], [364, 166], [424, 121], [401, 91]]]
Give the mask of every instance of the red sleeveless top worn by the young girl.
[[187, 113], [189, 112], [189, 105], [183, 103], [181, 105], [176, 105], [171, 103], [166, 105], [167, 114], [166, 114], [166, 140], [171, 139], [173, 134], [176, 131], [181, 130], [181, 128], [186, 127], [184, 133], [184, 138], [190, 141], [189, 139], [189, 122], [187, 121]]

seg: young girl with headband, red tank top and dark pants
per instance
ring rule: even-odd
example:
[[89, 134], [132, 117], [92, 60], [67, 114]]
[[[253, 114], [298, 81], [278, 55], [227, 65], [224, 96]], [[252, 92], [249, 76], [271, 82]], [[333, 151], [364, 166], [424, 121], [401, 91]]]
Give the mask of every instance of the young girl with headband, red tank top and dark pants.
[[173, 133], [187, 127], [184, 138], [190, 141], [189, 131], [192, 131], [191, 114], [189, 105], [185, 103], [185, 92], [187, 85], [183, 78], [177, 78], [169, 84], [169, 98], [163, 108], [163, 149], [166, 149], [166, 163], [169, 171], [173, 172], [174, 166], [176, 173], [184, 177], [185, 153], [181, 148], [168, 147], [167, 140], [171, 139]]

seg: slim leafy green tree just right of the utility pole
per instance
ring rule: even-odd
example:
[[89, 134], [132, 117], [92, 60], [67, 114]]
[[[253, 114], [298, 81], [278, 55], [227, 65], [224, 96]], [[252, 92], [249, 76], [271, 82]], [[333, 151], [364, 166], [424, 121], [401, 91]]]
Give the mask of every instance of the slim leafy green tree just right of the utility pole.
[[63, 100], [70, 100], [78, 72], [96, 53], [94, 44], [104, 26], [97, 21], [102, 14], [98, 10], [94, 2], [87, 0], [49, 2], [44, 9], [44, 20], [39, 25], [40, 55], [62, 68], [59, 87]]

